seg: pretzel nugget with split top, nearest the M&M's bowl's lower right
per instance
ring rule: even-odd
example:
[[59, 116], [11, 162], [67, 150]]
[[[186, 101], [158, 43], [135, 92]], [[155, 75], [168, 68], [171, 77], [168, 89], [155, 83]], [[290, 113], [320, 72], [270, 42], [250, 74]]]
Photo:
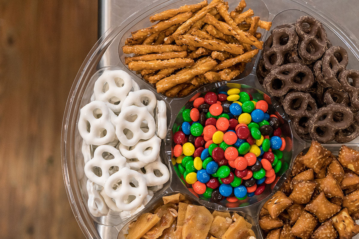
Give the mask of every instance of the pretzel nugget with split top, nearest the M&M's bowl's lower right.
[[269, 212], [272, 218], [276, 218], [281, 212], [284, 211], [289, 205], [292, 204], [285, 194], [281, 191], [276, 192], [266, 203], [263, 205], [264, 209]]

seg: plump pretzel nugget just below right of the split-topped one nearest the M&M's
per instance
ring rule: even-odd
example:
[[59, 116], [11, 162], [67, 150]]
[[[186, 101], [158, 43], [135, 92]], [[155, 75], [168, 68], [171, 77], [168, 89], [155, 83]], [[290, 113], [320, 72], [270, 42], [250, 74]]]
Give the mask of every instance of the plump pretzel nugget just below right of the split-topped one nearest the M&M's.
[[317, 223], [318, 220], [315, 216], [309, 212], [303, 211], [290, 232], [294, 236], [298, 236], [302, 239], [308, 239]]

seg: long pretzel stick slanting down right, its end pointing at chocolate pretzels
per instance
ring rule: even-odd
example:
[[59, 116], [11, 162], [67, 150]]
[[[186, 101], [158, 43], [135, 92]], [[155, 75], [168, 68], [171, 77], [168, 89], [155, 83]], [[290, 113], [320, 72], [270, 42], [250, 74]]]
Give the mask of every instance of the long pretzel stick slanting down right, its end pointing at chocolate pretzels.
[[218, 30], [220, 30], [222, 33], [226, 35], [233, 35], [233, 37], [237, 38], [240, 42], [247, 43], [250, 45], [253, 45], [257, 47], [258, 49], [263, 48], [263, 44], [258, 41], [257, 38], [252, 36], [251, 34], [247, 32], [243, 32], [238, 27], [233, 28], [232, 26], [228, 25], [227, 23], [224, 23], [223, 21], [216, 20], [212, 15], [206, 14], [205, 18], [206, 23], [213, 25]]

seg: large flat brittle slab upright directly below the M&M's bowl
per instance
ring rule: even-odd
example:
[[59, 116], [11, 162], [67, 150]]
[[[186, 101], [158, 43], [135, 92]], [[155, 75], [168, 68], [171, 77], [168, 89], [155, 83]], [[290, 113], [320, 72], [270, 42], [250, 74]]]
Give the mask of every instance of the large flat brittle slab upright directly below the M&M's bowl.
[[205, 239], [212, 224], [213, 216], [204, 206], [188, 205], [182, 227], [182, 237]]

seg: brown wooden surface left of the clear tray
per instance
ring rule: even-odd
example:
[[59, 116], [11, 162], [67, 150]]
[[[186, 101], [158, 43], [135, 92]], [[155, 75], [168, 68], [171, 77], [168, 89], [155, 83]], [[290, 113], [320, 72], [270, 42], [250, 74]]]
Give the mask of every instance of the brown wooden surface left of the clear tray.
[[97, 0], [0, 1], [0, 238], [84, 238], [65, 192], [60, 137], [97, 40]]

